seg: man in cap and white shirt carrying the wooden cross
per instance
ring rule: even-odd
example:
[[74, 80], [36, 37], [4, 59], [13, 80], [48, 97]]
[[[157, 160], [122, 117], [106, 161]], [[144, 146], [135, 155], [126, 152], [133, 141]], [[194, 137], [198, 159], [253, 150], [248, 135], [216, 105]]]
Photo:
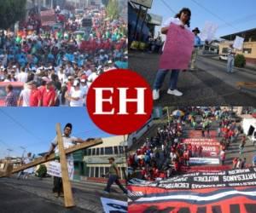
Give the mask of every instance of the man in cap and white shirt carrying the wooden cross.
[[[72, 132], [72, 124], [68, 123], [66, 124], [64, 128], [64, 132], [62, 134], [62, 140], [63, 140], [63, 146], [65, 149], [69, 147], [73, 147], [77, 143], [84, 143], [91, 139], [88, 139], [86, 141], [70, 136]], [[55, 147], [58, 145], [57, 136], [55, 139], [51, 142], [51, 147], [49, 148], [49, 152], [44, 155], [44, 158], [48, 158], [51, 153], [54, 153]], [[55, 153], [59, 153], [59, 149], [57, 148], [55, 150]], [[67, 164], [73, 167], [73, 154], [67, 155]], [[54, 187], [53, 187], [53, 193], [55, 193], [55, 197], [63, 197], [63, 186], [62, 186], [62, 178], [59, 176], [54, 177]]]

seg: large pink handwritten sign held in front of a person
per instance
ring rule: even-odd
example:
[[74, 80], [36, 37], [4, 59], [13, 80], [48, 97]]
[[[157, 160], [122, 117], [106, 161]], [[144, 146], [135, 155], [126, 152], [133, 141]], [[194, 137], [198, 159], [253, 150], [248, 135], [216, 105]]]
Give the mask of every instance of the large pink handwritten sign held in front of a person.
[[165, 49], [160, 57], [160, 69], [187, 69], [194, 48], [195, 35], [181, 26], [171, 24]]

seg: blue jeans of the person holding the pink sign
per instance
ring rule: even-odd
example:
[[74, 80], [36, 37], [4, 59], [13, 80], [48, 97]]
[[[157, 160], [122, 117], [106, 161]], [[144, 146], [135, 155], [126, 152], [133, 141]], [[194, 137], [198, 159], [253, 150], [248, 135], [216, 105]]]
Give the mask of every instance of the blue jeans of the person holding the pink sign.
[[[156, 77], [154, 79], [154, 89], [160, 89], [166, 74], [169, 70], [166, 69], [160, 69], [157, 71]], [[177, 78], [178, 78], [179, 70], [172, 70], [170, 81], [169, 81], [169, 89], [177, 89]]]

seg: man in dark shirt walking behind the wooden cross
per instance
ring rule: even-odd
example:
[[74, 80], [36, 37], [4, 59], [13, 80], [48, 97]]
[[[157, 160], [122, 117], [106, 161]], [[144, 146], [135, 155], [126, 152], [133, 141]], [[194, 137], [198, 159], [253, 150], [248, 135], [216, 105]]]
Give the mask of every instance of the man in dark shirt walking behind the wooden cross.
[[[110, 168], [109, 168], [109, 177], [108, 177], [108, 184], [107, 187], [104, 189], [104, 193], [110, 193], [110, 187], [112, 186], [113, 182], [115, 182], [122, 191], [127, 194], [127, 189], [123, 187], [123, 185], [120, 183], [120, 172], [117, 164], [114, 164], [114, 158], [108, 158]], [[105, 175], [106, 176], [106, 175]]]

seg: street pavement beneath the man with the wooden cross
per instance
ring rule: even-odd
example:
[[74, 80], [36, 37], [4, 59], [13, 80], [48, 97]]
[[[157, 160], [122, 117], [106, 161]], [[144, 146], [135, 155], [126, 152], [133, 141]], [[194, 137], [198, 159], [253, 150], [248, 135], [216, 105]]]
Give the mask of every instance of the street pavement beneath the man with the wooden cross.
[[112, 193], [102, 193], [106, 184], [94, 182], [73, 182], [73, 208], [64, 207], [63, 198], [52, 193], [53, 180], [16, 180], [15, 176], [0, 178], [0, 212], [11, 213], [55, 213], [55, 212], [103, 212], [101, 198], [126, 201], [127, 197], [113, 184]]

